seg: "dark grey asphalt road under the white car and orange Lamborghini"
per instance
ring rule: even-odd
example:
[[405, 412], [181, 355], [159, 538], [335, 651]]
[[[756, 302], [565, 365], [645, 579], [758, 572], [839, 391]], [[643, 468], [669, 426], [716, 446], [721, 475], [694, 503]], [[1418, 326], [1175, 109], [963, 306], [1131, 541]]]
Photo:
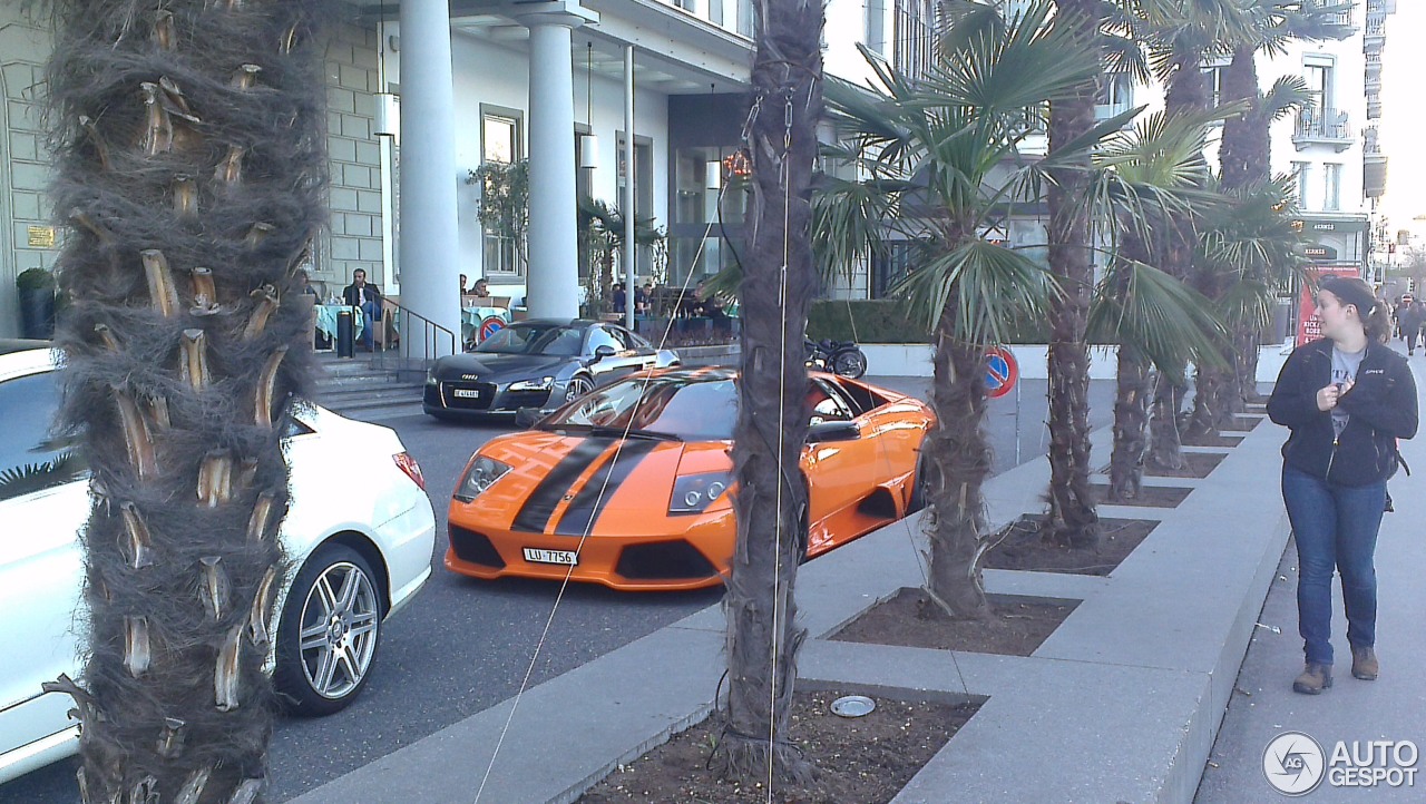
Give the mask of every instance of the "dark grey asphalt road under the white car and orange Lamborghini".
[[[924, 398], [928, 381], [880, 378], [887, 386]], [[1112, 382], [1095, 382], [1092, 425], [1111, 419]], [[1020, 458], [1044, 453], [1045, 382], [1021, 389]], [[501, 428], [434, 422], [419, 413], [384, 418], [416, 456], [436, 502], [445, 533], [445, 500], [471, 452]], [[988, 431], [995, 472], [1015, 465], [1015, 396], [991, 402]], [[1097, 462], [1108, 456], [1097, 456]], [[356, 483], [356, 478], [349, 478]], [[488, 708], [516, 693], [540, 640], [558, 587], [548, 583], [481, 583], [439, 569], [443, 537], [432, 556], [436, 573], [415, 602], [382, 634], [376, 669], [362, 696], [345, 711], [321, 720], [279, 720], [271, 750], [271, 800], [282, 801], [402, 746]], [[530, 684], [572, 670], [667, 623], [697, 612], [720, 590], [672, 594], [617, 594], [570, 587], [545, 637]], [[596, 694], [596, 691], [590, 691]], [[73, 761], [57, 763], [0, 785], [0, 804], [71, 804], [77, 800]]]

